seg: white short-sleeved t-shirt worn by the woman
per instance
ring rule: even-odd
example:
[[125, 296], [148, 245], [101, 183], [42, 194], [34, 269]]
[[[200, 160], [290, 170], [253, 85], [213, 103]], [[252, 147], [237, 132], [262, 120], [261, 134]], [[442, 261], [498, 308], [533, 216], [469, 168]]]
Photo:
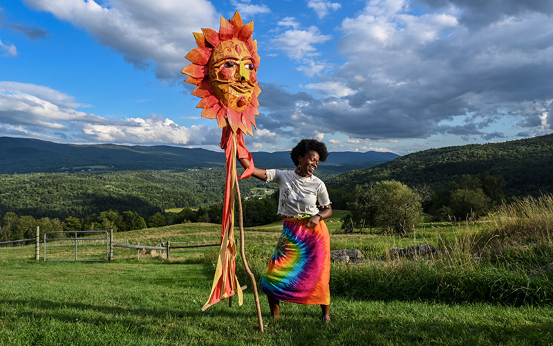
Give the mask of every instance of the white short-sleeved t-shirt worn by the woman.
[[279, 214], [299, 217], [316, 215], [319, 206], [328, 206], [330, 199], [326, 186], [317, 176], [303, 177], [290, 170], [267, 170], [267, 181], [279, 185]]

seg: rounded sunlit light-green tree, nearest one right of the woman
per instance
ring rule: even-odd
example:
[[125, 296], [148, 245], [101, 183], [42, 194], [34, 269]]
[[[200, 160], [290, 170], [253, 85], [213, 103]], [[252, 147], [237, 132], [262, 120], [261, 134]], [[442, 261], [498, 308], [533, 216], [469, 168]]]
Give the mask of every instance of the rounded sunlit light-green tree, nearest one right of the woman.
[[413, 190], [399, 181], [380, 181], [373, 190], [377, 219], [382, 226], [403, 235], [415, 229], [422, 214], [422, 202], [429, 198], [428, 189]]

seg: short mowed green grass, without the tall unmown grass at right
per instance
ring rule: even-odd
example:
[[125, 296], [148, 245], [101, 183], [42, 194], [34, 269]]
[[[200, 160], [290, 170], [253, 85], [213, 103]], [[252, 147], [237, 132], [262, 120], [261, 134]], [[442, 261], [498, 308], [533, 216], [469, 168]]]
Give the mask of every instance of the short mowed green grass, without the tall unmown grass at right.
[[[338, 234], [338, 216], [329, 223], [333, 249], [356, 245], [376, 254], [422, 241]], [[217, 225], [186, 224], [115, 238], [209, 244], [219, 232]], [[254, 257], [270, 255], [279, 236], [279, 224], [248, 229], [246, 248]], [[86, 255], [102, 253], [105, 246], [86, 248]], [[137, 251], [116, 248], [111, 263], [37, 262], [34, 255], [33, 248], [0, 248], [0, 345], [553, 345], [550, 305], [380, 302], [339, 293], [332, 294], [329, 325], [318, 306], [291, 303], [274, 322], [261, 293], [261, 334], [250, 287], [241, 307], [235, 299], [232, 307], [225, 301], [200, 311], [212, 286], [214, 248], [174, 250], [171, 260], [138, 260]], [[251, 286], [242, 272], [238, 277]]]

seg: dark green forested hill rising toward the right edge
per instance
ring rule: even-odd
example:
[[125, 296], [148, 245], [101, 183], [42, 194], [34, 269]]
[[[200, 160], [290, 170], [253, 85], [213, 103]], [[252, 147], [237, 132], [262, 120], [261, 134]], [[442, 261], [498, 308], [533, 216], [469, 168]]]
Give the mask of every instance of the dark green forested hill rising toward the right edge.
[[507, 196], [553, 192], [553, 134], [505, 143], [463, 145], [415, 152], [395, 160], [336, 176], [328, 188], [351, 190], [371, 181], [397, 180], [407, 185], [445, 188], [463, 174], [503, 176]]

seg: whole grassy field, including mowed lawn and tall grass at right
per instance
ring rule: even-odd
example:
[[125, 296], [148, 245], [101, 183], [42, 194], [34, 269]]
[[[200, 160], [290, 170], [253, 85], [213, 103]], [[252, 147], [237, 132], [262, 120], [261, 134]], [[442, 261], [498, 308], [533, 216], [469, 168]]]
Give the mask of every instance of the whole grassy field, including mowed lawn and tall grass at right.
[[[547, 210], [534, 212], [538, 221], [521, 210], [477, 224], [425, 223], [409, 237], [344, 234], [343, 213], [335, 211], [328, 221], [332, 250], [357, 248], [366, 261], [332, 264], [332, 322], [321, 322], [319, 307], [291, 303], [273, 321], [261, 293], [263, 334], [251, 288], [241, 307], [235, 299], [232, 307], [225, 301], [200, 311], [216, 248], [174, 250], [170, 260], [115, 248], [113, 262], [37, 262], [32, 247], [0, 248], [0, 345], [553, 345], [553, 275], [528, 273], [553, 261], [550, 226], [541, 226], [553, 223]], [[210, 244], [220, 227], [182, 224], [115, 239]], [[258, 281], [280, 232], [279, 223], [245, 231]], [[387, 255], [423, 243], [441, 253], [413, 260]], [[70, 247], [47, 249], [48, 255], [63, 257]], [[79, 253], [102, 257], [105, 246]], [[236, 262], [238, 280], [250, 286]]]

